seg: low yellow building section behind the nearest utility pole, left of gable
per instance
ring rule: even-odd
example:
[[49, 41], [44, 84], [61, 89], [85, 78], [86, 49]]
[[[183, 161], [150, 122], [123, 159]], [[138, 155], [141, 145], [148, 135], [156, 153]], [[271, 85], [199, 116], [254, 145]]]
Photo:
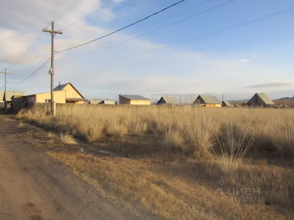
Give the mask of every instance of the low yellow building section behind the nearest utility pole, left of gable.
[[[56, 103], [66, 103], [65, 90], [54, 91], [54, 102]], [[33, 94], [24, 96], [26, 102], [43, 102], [50, 103], [51, 102], [51, 92], [43, 92], [39, 94]]]

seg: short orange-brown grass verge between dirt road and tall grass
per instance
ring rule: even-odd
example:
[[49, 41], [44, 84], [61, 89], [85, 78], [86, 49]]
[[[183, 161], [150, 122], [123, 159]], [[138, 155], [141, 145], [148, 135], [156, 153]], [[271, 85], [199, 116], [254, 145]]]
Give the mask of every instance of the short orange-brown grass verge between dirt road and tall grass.
[[[106, 196], [123, 197], [126, 204], [136, 202], [137, 208], [164, 219], [288, 219], [294, 216], [293, 211], [280, 205], [268, 206], [262, 201], [251, 201], [251, 197], [250, 201], [238, 202], [238, 197], [216, 193], [220, 178], [216, 173], [211, 178], [207, 172], [208, 163], [193, 161], [190, 163], [194, 164], [194, 169], [189, 169], [189, 162], [179, 166], [176, 162], [161, 164], [146, 159], [84, 153], [51, 151], [48, 154]], [[293, 171], [290, 174], [293, 175]], [[265, 195], [261, 189], [256, 197]]]

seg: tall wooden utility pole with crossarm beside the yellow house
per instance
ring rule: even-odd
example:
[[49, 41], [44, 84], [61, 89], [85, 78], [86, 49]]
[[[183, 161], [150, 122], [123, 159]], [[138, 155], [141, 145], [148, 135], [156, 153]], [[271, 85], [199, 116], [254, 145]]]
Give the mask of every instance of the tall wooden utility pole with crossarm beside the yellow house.
[[51, 34], [51, 69], [49, 70], [49, 75], [51, 75], [51, 114], [55, 116], [55, 105], [53, 96], [53, 81], [54, 81], [54, 36], [55, 34], [62, 34], [60, 30], [54, 31], [54, 21], [51, 21], [51, 31], [47, 28], [43, 29], [43, 32], [48, 32]]

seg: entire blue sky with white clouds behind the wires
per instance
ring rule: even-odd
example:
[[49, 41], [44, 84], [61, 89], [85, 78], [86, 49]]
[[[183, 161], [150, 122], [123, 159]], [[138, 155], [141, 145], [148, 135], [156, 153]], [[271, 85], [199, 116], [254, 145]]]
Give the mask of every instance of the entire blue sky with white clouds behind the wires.
[[[198, 94], [215, 94], [221, 99], [221, 94], [224, 94], [228, 100], [249, 98], [255, 92], [279, 92], [269, 94], [272, 99], [293, 97], [293, 92], [281, 91], [294, 89], [294, 10], [173, 47], [121, 59], [86, 63], [140, 53], [230, 28], [290, 9], [294, 7], [294, 2], [290, 0], [234, 0], [135, 40], [89, 55], [62, 60], [137, 37], [229, 0], [208, 1], [166, 21], [95, 48], [204, 1], [186, 0], [107, 38], [56, 54], [54, 84], [57, 85], [59, 81], [71, 82], [83, 96], [101, 99], [116, 98], [118, 94], [141, 94], [151, 99], [159, 99], [166, 94], [176, 97], [181, 95], [186, 99], [193, 99]], [[11, 72], [8, 82], [25, 78], [50, 57], [50, 47], [47, 47], [34, 59], [50, 43], [50, 35], [43, 33], [32, 49], [20, 59], [42, 28], [73, 4], [74, 0], [17, 2], [11, 0], [0, 3], [1, 8], [5, 8], [0, 15], [0, 69], [7, 67], [8, 72]], [[83, 0], [57, 20], [55, 28], [69, 26], [106, 2]], [[63, 35], [55, 40], [55, 50], [93, 40], [175, 2], [115, 0], [65, 29]], [[59, 11], [56, 11], [55, 4], [59, 5]], [[26, 94], [49, 91], [49, 68], [50, 64], [47, 64], [29, 79], [8, 84], [7, 89], [22, 90]], [[0, 83], [4, 84], [4, 79], [0, 78]]]

